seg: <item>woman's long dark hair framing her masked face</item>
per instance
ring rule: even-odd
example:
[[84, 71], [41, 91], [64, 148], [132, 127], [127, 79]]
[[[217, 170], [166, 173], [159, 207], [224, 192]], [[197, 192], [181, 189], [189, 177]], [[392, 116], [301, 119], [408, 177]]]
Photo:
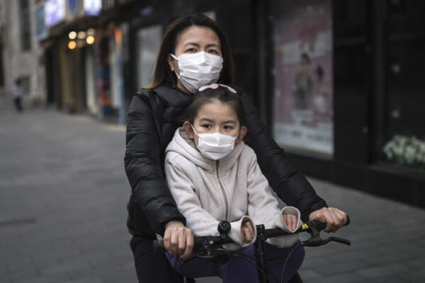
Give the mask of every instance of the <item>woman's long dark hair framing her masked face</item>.
[[230, 48], [229, 40], [223, 33], [215, 21], [201, 13], [193, 13], [189, 16], [177, 18], [169, 25], [164, 37], [162, 37], [161, 47], [159, 47], [157, 62], [155, 64], [154, 77], [146, 88], [156, 88], [164, 81], [176, 84], [176, 74], [171, 71], [168, 64], [168, 55], [174, 54], [176, 50], [177, 37], [186, 28], [192, 25], [205, 26], [211, 28], [217, 33], [220, 39], [221, 51], [223, 56], [223, 69], [220, 73], [220, 81], [223, 83], [234, 83], [234, 64], [232, 57], [232, 49]]

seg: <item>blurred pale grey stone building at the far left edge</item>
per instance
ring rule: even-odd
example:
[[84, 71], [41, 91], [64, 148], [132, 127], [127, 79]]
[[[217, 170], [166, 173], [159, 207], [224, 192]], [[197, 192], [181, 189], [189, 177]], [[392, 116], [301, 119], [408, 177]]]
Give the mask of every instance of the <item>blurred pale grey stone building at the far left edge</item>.
[[10, 95], [20, 79], [24, 103], [45, 103], [42, 48], [35, 37], [35, 0], [0, 1], [0, 92]]

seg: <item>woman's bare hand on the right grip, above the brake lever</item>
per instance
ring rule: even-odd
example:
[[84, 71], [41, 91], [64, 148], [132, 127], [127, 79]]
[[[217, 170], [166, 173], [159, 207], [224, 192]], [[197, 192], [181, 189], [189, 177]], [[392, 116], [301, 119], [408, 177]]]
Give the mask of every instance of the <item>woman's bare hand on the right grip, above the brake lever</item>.
[[336, 230], [346, 224], [347, 214], [334, 207], [323, 207], [322, 209], [312, 212], [312, 214], [308, 217], [308, 220], [326, 222], [327, 226], [324, 231], [330, 233], [336, 232]]

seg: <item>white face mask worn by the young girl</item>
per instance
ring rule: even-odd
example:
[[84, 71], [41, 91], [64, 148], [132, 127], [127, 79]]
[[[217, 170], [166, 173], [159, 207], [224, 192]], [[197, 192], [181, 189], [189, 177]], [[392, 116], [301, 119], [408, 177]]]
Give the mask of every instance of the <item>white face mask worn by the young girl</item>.
[[[193, 129], [193, 125], [192, 125]], [[198, 149], [203, 156], [210, 158], [212, 160], [219, 160], [225, 158], [227, 154], [234, 148], [234, 141], [237, 139], [239, 134], [236, 137], [226, 136], [225, 134], [220, 134], [215, 132], [212, 134], [198, 134], [195, 129], [193, 132], [198, 135]]]

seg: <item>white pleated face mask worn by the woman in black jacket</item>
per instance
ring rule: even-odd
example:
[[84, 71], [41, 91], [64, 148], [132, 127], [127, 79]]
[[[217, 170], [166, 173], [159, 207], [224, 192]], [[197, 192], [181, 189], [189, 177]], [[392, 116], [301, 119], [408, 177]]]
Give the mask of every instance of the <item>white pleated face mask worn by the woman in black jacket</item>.
[[201, 86], [206, 86], [218, 81], [223, 67], [223, 59], [220, 56], [207, 52], [183, 54], [171, 57], [179, 61], [180, 76], [177, 78], [191, 93], [196, 93]]

